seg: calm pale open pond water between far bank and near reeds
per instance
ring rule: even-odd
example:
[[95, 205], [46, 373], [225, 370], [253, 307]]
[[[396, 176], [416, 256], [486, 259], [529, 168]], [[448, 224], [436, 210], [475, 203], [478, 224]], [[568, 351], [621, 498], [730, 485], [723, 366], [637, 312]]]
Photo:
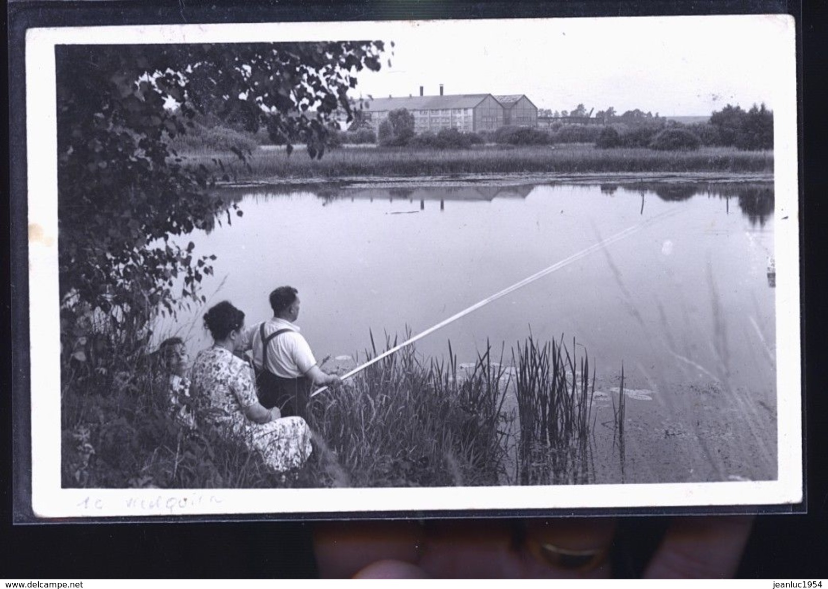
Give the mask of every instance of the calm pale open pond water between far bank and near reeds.
[[[417, 342], [424, 357], [504, 362], [532, 333], [575, 338], [599, 377], [663, 390], [724, 383], [774, 390], [772, 184], [635, 184], [236, 189], [243, 217], [187, 236], [214, 253], [208, 304], [248, 323], [293, 285], [317, 359], [359, 354], [384, 333], [419, 333], [557, 261], [638, 227]], [[663, 216], [667, 213], [666, 216]], [[164, 329], [208, 345], [200, 314]]]

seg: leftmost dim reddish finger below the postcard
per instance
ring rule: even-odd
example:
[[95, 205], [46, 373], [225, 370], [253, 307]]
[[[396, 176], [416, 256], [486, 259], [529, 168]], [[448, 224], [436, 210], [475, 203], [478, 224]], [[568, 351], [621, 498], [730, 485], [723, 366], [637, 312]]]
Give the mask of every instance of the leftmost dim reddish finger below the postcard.
[[416, 563], [422, 527], [412, 521], [326, 522], [314, 526], [320, 576], [349, 578], [371, 563]]

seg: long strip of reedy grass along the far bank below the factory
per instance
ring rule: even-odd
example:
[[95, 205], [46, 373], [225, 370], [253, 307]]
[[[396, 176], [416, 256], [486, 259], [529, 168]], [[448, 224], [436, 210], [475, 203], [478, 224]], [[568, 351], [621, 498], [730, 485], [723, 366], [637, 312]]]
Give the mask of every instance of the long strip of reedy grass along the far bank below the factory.
[[773, 151], [739, 151], [734, 147], [702, 147], [697, 151], [643, 147], [602, 150], [584, 144], [442, 151], [348, 147], [326, 152], [321, 160], [311, 160], [299, 149], [288, 156], [283, 149], [258, 148], [248, 156], [249, 169], [232, 154], [187, 151], [181, 156], [191, 165], [211, 165], [220, 158], [236, 181], [509, 173], [773, 172]]

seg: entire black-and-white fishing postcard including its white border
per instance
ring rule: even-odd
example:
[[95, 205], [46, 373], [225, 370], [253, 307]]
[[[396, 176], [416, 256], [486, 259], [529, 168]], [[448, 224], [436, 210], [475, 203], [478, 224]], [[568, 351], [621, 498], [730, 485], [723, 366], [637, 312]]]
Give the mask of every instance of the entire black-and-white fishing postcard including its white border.
[[794, 31], [30, 29], [36, 517], [801, 503]]

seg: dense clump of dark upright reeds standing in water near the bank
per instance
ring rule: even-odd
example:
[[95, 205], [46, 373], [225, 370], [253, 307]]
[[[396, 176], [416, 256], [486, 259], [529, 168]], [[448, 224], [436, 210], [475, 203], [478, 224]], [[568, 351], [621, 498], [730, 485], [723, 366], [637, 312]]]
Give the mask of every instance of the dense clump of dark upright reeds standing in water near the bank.
[[[575, 340], [572, 342], [576, 349]], [[513, 351], [520, 422], [517, 479], [522, 485], [589, 482], [592, 399], [586, 352], [576, 359], [563, 343], [532, 337]], [[578, 368], [578, 370], [576, 370]]]

